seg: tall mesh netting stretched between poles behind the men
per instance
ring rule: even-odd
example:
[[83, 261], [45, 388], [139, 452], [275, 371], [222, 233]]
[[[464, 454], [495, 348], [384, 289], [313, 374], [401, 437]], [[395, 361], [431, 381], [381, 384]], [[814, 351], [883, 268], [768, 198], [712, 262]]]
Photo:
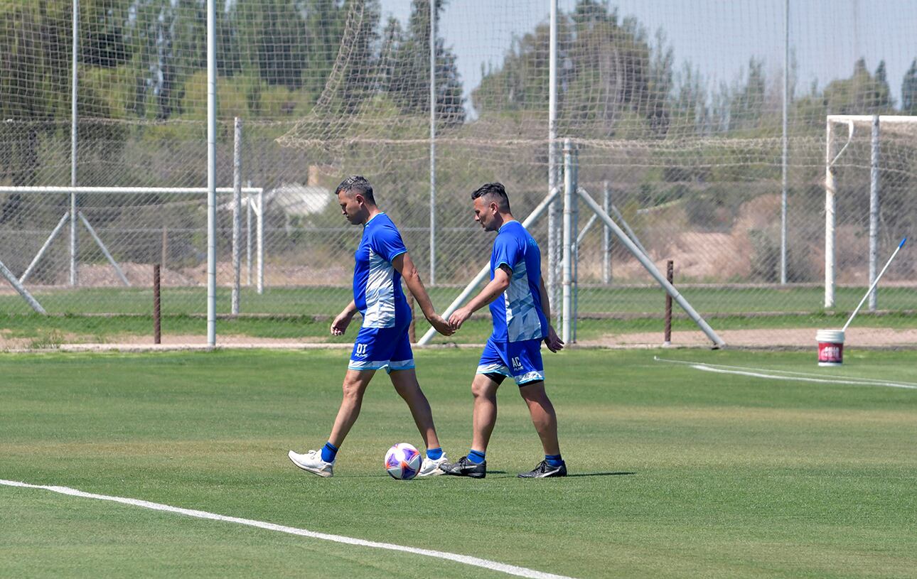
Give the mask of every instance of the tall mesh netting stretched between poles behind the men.
[[[232, 185], [239, 117], [243, 184], [264, 191], [264, 290], [256, 289], [253, 199], [241, 217], [242, 315], [221, 319], [218, 333], [245, 341], [326, 339], [326, 317], [349, 299], [359, 239], [332, 191], [353, 173], [370, 179], [425, 279], [435, 269], [431, 294], [444, 310], [490, 254], [492, 238], [471, 221], [470, 191], [502, 181], [514, 214], [525, 217], [547, 194], [549, 147], [559, 167], [559, 143], [569, 138], [580, 187], [597, 202], [608, 199], [661, 269], [675, 262], [676, 285], [727, 342], [809, 344], [813, 328], [843, 323], [868, 282], [866, 122], [834, 165], [838, 289], [834, 309], [823, 310], [825, 147], [840, 150], [847, 139], [839, 126], [826, 143], [826, 115], [917, 114], [910, 41], [917, 7], [878, 4], [791, 8], [782, 267], [782, 3], [558, 2], [558, 141], [551, 143], [547, 0], [440, 1], [432, 10], [425, 0], [218, 2], [217, 184]], [[205, 5], [81, 0], [78, 185], [204, 187]], [[0, 185], [68, 185], [72, 3], [10, 0], [0, 6], [0, 27]], [[912, 231], [917, 213], [911, 127], [881, 126], [880, 261]], [[0, 260], [15, 275], [32, 263], [70, 201], [65, 193], [0, 193]], [[233, 279], [231, 201], [226, 194], [218, 200], [221, 314], [230, 311]], [[203, 340], [205, 196], [85, 192], [77, 204], [131, 285], [82, 221], [71, 285], [65, 223], [26, 285], [52, 314], [74, 315], [43, 327], [57, 328], [63, 341], [149, 340], [151, 264], [161, 263], [167, 339]], [[581, 203], [579, 211], [581, 232], [590, 214]], [[547, 221], [531, 227], [546, 268]], [[578, 341], [660, 342], [662, 291], [606, 237], [596, 222], [581, 235]], [[869, 344], [917, 343], [908, 330], [912, 256], [902, 251], [882, 282], [878, 310], [891, 315], [867, 311], [857, 322]], [[11, 316], [29, 311], [7, 285], [0, 300]], [[89, 314], [115, 321], [101, 329], [73, 321]], [[456, 339], [481, 341], [485, 325]], [[676, 344], [704, 341], [689, 322], [677, 319], [676, 330]]]

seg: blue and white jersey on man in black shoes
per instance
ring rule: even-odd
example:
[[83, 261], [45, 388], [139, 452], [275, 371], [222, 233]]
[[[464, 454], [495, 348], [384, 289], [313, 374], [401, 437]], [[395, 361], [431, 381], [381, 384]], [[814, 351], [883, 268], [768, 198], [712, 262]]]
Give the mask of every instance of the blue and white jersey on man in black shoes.
[[532, 235], [518, 221], [503, 224], [493, 241], [493, 272], [506, 264], [513, 270], [503, 298], [491, 302], [492, 340], [525, 342], [547, 335], [547, 319], [541, 307], [541, 251]]

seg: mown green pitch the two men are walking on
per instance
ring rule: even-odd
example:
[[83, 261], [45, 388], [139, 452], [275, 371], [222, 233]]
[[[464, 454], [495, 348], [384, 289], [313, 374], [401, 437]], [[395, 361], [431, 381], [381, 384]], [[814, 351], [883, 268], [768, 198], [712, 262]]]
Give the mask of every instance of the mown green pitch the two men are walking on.
[[[470, 442], [476, 351], [417, 355], [452, 457]], [[914, 352], [574, 350], [546, 355], [566, 479], [505, 385], [484, 480], [394, 481], [419, 444], [386, 377], [336, 475], [326, 440], [345, 351], [0, 355], [0, 479], [133, 497], [574, 577], [913, 576], [917, 390], [719, 375], [653, 360], [913, 380]], [[0, 576], [507, 576], [125, 505], [0, 486]]]

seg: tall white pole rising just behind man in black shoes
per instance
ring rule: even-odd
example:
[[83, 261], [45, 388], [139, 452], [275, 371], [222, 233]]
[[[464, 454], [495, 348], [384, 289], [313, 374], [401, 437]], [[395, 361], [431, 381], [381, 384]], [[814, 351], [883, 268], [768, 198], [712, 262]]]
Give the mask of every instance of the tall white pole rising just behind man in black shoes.
[[[550, 39], [547, 81], [547, 190], [558, 189], [558, 0], [549, 0]], [[547, 210], [547, 295], [558, 302], [558, 222], [560, 207], [553, 203]], [[560, 319], [560, 309], [555, 316]], [[559, 324], [558, 324], [559, 325]]]

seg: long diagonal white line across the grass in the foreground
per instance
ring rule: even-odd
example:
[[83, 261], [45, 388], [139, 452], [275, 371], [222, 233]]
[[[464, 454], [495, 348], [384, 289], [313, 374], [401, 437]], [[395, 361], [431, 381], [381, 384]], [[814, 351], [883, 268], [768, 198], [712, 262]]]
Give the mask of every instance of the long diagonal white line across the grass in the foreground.
[[490, 569], [491, 571], [498, 571], [500, 573], [516, 575], [518, 577], [532, 577], [533, 579], [571, 579], [565, 575], [556, 575], [545, 573], [543, 571], [536, 571], [534, 569], [527, 569], [525, 567], [517, 567], [516, 565], [510, 565], [507, 563], [499, 563], [496, 561], [489, 561], [487, 559], [481, 559], [479, 557], [471, 557], [469, 555], [459, 555], [457, 553], [451, 552], [442, 552], [442, 551], [431, 551], [428, 549], [418, 549], [416, 547], [406, 547], [403, 545], [395, 545], [393, 543], [383, 543], [377, 541], [365, 541], [363, 539], [354, 539], [352, 537], [345, 537], [343, 535], [330, 535], [327, 533], [316, 532], [315, 530], [306, 530], [306, 529], [297, 529], [295, 527], [286, 527], [284, 525], [276, 525], [274, 523], [264, 522], [261, 520], [253, 519], [240, 519], [238, 517], [226, 517], [225, 515], [217, 515], [215, 513], [208, 513], [204, 510], [194, 510], [192, 508], [179, 508], [171, 507], [171, 505], [163, 505], [161, 503], [151, 503], [146, 500], [139, 500], [137, 498], [127, 498], [127, 497], [111, 497], [108, 495], [96, 495], [94, 493], [87, 493], [82, 490], [75, 488], [70, 488], [68, 486], [43, 486], [43, 485], [30, 485], [28, 483], [21, 483], [12, 480], [0, 479], [0, 485], [5, 486], [18, 486], [21, 488], [40, 488], [43, 490], [50, 490], [51, 492], [61, 493], [61, 495], [69, 495], [71, 497], [83, 497], [83, 498], [94, 498], [96, 500], [107, 500], [115, 503], [121, 503], [123, 505], [131, 505], [134, 507], [150, 508], [152, 510], [160, 510], [169, 513], [176, 513], [179, 515], [185, 515], [187, 517], [194, 517], [196, 519], [210, 519], [210, 520], [220, 520], [224, 522], [237, 523], [238, 525], [247, 525], [249, 527], [257, 527], [259, 529], [266, 530], [275, 530], [282, 533], [287, 533], [290, 535], [299, 535], [301, 537], [309, 537], [310, 539], [319, 539], [321, 541], [333, 541], [338, 543], [344, 543], [347, 545], [356, 545], [359, 547], [370, 547], [371, 549], [384, 549], [386, 551], [397, 551], [397, 552], [409, 552], [414, 553], [415, 555], [423, 555], [425, 557], [433, 557], [435, 559], [444, 559], [446, 561], [454, 561], [456, 563], [462, 563], [465, 565], [473, 565], [475, 567], [482, 567], [484, 569]]

